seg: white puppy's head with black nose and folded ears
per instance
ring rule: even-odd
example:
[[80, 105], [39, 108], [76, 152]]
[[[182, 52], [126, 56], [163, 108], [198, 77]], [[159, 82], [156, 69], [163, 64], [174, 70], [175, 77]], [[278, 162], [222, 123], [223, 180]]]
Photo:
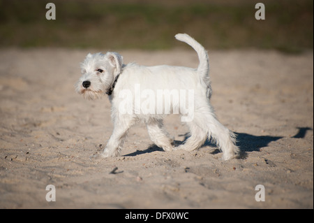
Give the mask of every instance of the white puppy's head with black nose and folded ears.
[[77, 82], [76, 91], [85, 99], [99, 99], [108, 93], [121, 72], [123, 59], [117, 52], [90, 53], [81, 63], [82, 76]]

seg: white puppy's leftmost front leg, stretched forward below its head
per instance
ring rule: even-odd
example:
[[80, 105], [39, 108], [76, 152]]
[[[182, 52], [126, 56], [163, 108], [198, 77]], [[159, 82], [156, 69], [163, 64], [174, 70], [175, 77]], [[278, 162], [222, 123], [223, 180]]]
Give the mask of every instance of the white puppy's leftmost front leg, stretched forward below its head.
[[133, 119], [130, 117], [124, 117], [123, 121], [121, 117], [118, 117], [114, 121], [114, 130], [101, 154], [102, 157], [119, 157], [126, 133], [133, 123]]

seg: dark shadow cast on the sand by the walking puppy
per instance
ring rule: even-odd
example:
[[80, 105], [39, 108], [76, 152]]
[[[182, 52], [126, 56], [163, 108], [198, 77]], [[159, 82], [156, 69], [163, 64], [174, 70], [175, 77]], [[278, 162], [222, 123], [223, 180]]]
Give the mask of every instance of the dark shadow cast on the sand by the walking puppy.
[[[313, 130], [310, 127], [297, 127], [299, 131], [297, 134], [292, 136], [291, 138], [304, 138], [306, 135], [306, 131], [308, 130]], [[267, 147], [269, 143], [278, 141], [281, 138], [284, 138], [284, 136], [254, 136], [251, 134], [245, 134], [245, 133], [239, 133], [239, 132], [234, 132], [234, 134], [237, 134], [237, 146], [240, 148], [240, 154], [238, 159], [246, 159], [248, 156], [248, 152], [253, 152], [253, 151], [260, 151], [260, 148]], [[184, 134], [184, 141], [174, 141], [174, 146], [178, 146], [183, 144], [186, 139], [188, 139], [188, 134]], [[216, 147], [214, 143], [211, 143], [209, 139], [205, 141], [204, 145], [205, 146], [211, 146], [211, 147]], [[162, 148], [159, 148], [157, 145], [151, 145], [149, 148], [146, 150], [137, 150], [136, 152], [132, 152], [130, 154], [125, 154], [125, 157], [135, 157], [139, 154], [144, 154], [144, 153], [149, 153], [149, 152], [155, 152], [155, 151], [162, 151]], [[216, 148], [211, 154], [216, 154], [220, 152], [218, 148]]]

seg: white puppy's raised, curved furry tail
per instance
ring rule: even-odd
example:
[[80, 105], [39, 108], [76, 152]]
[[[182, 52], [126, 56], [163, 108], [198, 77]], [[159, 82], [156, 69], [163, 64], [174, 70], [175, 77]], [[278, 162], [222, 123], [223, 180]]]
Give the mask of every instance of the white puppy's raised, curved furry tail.
[[203, 48], [202, 45], [200, 45], [200, 43], [195, 41], [194, 38], [188, 36], [188, 34], [177, 34], [174, 37], [177, 38], [178, 41], [188, 43], [188, 45], [190, 45], [197, 52], [198, 59], [200, 60], [197, 73], [203, 80], [207, 80], [209, 78], [209, 59], [207, 51]]

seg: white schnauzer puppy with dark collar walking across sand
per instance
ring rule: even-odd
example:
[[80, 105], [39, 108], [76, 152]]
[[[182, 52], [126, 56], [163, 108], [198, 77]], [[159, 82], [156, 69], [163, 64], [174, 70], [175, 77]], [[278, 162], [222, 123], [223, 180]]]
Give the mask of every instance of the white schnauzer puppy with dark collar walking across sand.
[[[209, 101], [207, 51], [187, 34], [175, 37], [197, 52], [200, 60], [197, 69], [123, 64], [117, 52], [89, 54], [82, 62], [77, 92], [85, 99], [98, 99], [107, 94], [112, 104], [114, 129], [102, 157], [119, 156], [128, 129], [139, 121], [147, 125], [151, 141], [165, 151], [197, 150], [209, 138], [223, 152], [223, 160], [239, 153], [235, 135], [218, 122]], [[163, 129], [163, 118], [169, 113], [181, 115], [181, 121], [190, 129], [190, 136], [177, 147]]]

